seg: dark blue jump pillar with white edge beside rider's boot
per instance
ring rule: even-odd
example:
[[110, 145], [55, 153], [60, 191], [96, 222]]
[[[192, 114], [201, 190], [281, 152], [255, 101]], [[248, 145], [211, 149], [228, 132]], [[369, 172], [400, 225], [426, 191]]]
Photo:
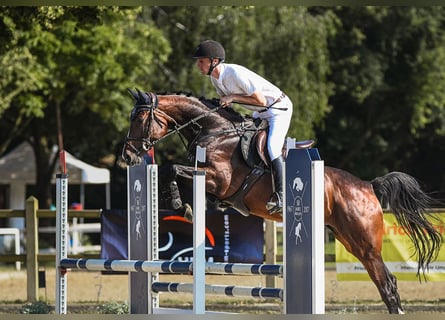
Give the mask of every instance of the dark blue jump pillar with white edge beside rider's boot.
[[283, 185], [284, 313], [325, 313], [324, 162], [287, 139]]

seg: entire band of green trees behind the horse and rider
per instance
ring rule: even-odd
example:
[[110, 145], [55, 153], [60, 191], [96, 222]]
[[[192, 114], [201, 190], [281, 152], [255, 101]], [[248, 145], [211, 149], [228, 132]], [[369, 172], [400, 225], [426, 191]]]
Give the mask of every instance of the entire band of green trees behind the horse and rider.
[[[445, 156], [442, 7], [3, 6], [0, 154], [30, 141], [44, 190], [59, 107], [66, 149], [117, 163], [128, 87], [216, 96], [191, 58], [204, 39], [290, 96], [289, 136], [316, 139], [327, 164], [362, 178], [418, 173], [445, 189], [439, 161], [421, 161]], [[176, 137], [156, 149], [161, 164], [185, 153]]]

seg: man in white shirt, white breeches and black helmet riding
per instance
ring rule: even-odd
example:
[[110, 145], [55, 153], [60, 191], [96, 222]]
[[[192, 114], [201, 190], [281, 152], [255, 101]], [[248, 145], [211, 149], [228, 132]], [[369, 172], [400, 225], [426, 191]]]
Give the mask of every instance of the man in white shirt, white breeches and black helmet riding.
[[279, 88], [255, 72], [237, 64], [224, 63], [225, 50], [217, 41], [201, 42], [193, 58], [196, 59], [196, 66], [201, 73], [210, 76], [223, 107], [230, 106], [233, 102], [241, 103], [253, 111], [253, 118], [265, 119], [269, 123], [267, 151], [272, 160], [275, 192], [267, 204], [267, 209], [271, 214], [282, 211], [281, 150], [292, 117], [291, 100]]

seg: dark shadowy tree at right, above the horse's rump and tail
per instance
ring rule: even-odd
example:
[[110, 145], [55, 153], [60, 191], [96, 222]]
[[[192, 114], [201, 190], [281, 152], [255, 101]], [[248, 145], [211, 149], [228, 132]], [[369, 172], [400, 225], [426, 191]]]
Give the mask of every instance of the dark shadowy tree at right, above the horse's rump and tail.
[[419, 161], [425, 143], [443, 145], [444, 9], [317, 10], [338, 17], [329, 42], [333, 112], [318, 128], [326, 162], [368, 179], [392, 170], [426, 179], [437, 165]]

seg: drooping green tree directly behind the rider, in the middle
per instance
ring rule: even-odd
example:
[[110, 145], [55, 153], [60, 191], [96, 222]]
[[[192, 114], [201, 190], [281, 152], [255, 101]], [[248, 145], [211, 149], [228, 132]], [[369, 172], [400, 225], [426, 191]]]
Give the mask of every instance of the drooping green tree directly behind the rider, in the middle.
[[[289, 136], [315, 138], [314, 125], [330, 111], [328, 39], [335, 22], [331, 12], [312, 14], [305, 7], [241, 6], [156, 7], [152, 14], [172, 45], [172, 54], [164, 64], [160, 83], [165, 88], [161, 91], [185, 90], [216, 97], [210, 81], [198, 72], [192, 59], [202, 40], [214, 39], [224, 45], [228, 63], [251, 68], [290, 96], [294, 115]], [[157, 150], [158, 154], [175, 153], [176, 161], [185, 159], [185, 149], [180, 145], [172, 147], [164, 142]]]

